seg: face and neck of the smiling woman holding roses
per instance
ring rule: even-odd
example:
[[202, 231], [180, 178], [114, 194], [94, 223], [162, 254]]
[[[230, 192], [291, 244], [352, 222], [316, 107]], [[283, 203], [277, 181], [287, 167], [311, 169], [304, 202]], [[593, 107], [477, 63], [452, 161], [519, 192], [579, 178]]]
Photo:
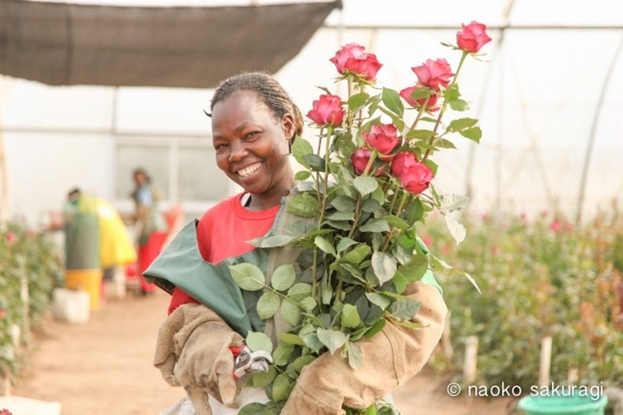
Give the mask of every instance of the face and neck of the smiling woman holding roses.
[[236, 91], [215, 104], [213, 144], [219, 169], [251, 194], [249, 210], [280, 204], [294, 186], [288, 143], [294, 116], [278, 118], [254, 91]]

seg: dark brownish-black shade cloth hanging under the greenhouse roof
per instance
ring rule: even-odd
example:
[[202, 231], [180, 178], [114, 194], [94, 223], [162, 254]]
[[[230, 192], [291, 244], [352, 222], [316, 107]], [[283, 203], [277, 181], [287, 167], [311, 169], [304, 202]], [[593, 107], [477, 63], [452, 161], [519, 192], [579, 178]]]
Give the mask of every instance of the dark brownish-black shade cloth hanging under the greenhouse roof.
[[275, 73], [339, 7], [0, 0], [0, 73], [50, 85], [210, 88], [240, 71]]

